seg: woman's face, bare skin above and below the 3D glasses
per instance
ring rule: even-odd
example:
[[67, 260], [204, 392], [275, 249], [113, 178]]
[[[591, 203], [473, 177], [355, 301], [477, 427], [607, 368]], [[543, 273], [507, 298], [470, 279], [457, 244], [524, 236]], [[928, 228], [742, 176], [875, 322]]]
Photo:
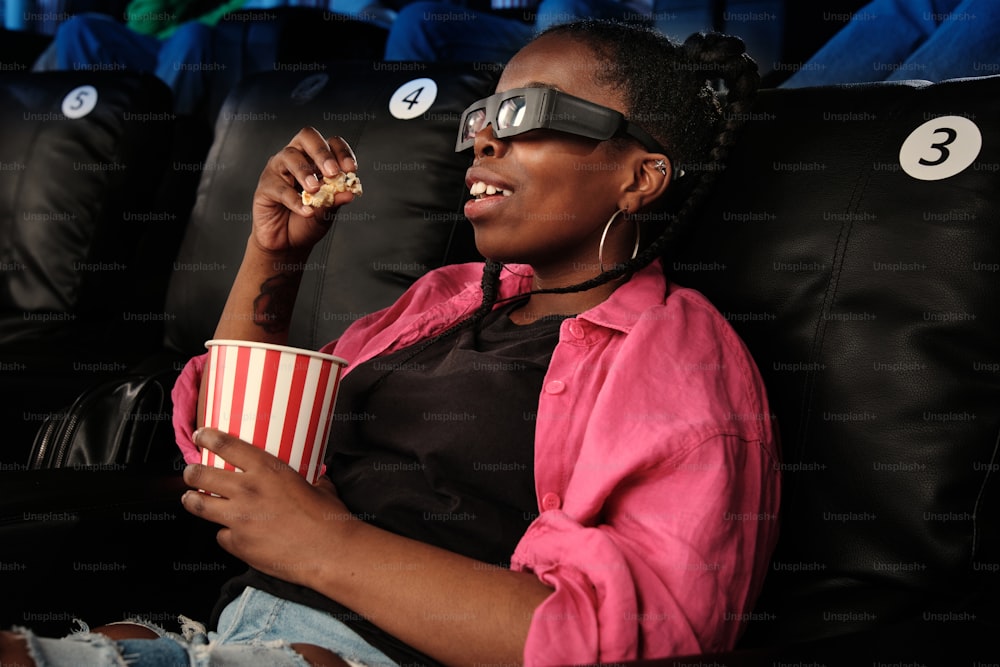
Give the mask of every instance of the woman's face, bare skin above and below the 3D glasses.
[[[586, 45], [549, 35], [511, 59], [497, 92], [542, 85], [625, 113], [621, 96], [595, 82], [595, 67], [600, 62]], [[479, 251], [497, 261], [531, 264], [536, 273], [553, 277], [596, 275], [601, 233], [622, 196], [623, 157], [608, 141], [554, 130], [497, 139], [487, 125], [476, 136], [466, 185], [482, 182], [510, 194], [466, 204]], [[605, 263], [623, 261], [627, 257], [614, 254], [615, 248], [627, 247], [630, 254], [635, 243], [632, 225], [612, 229], [620, 238], [609, 234]]]

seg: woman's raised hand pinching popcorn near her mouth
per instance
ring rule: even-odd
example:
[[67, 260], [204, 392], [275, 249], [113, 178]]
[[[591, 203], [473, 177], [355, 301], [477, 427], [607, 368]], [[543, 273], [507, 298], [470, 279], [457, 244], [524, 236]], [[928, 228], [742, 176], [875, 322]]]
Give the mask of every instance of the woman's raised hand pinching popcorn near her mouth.
[[[301, 190], [319, 191], [323, 176], [357, 171], [354, 151], [340, 137], [307, 127], [267, 161], [253, 197], [251, 241], [267, 253], [308, 253], [330, 228], [328, 213], [354, 199], [339, 192], [329, 209], [302, 203]], [[319, 178], [317, 178], [319, 176]]]

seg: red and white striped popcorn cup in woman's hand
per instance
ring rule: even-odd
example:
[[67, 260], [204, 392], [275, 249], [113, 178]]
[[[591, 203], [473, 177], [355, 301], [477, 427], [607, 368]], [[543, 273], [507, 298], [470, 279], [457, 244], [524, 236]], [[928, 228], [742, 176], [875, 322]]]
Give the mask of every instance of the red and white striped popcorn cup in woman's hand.
[[[198, 425], [252, 443], [310, 483], [323, 470], [340, 376], [347, 362], [284, 345], [210, 340], [198, 398]], [[203, 449], [201, 462], [238, 470]]]

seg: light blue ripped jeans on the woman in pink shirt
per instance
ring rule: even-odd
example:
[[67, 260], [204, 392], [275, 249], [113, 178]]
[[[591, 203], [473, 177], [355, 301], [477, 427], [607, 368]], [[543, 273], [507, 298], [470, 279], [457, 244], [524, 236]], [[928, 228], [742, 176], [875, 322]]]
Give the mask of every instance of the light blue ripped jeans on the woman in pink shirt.
[[[80, 632], [62, 639], [37, 637], [15, 628], [38, 667], [308, 667], [291, 644], [322, 646], [352, 667], [396, 667], [396, 663], [329, 614], [247, 588], [219, 618], [217, 632], [181, 617], [181, 634], [143, 622], [158, 639], [112, 640]], [[79, 623], [79, 621], [78, 621]]]

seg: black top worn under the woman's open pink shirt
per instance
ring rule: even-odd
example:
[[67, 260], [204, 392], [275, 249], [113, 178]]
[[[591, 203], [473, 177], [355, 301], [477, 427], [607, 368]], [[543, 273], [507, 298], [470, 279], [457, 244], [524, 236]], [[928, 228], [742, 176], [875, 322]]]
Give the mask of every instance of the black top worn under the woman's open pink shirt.
[[[478, 334], [466, 327], [344, 376], [327, 474], [358, 518], [509, 565], [537, 515], [534, 420], [564, 319], [518, 326], [518, 305], [494, 310]], [[252, 568], [223, 587], [213, 625], [245, 586], [325, 610], [397, 662], [435, 664], [343, 605]]]

